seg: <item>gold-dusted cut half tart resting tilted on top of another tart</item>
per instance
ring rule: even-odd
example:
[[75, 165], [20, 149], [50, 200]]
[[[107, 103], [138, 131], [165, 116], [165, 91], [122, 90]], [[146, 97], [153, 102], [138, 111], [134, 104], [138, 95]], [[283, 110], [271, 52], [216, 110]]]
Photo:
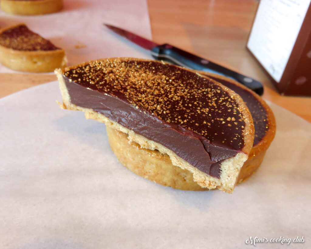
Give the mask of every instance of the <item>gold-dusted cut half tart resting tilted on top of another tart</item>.
[[227, 87], [144, 59], [101, 59], [55, 73], [63, 108], [84, 111], [142, 151], [167, 155], [201, 187], [234, 190], [253, 146], [254, 127], [244, 101]]

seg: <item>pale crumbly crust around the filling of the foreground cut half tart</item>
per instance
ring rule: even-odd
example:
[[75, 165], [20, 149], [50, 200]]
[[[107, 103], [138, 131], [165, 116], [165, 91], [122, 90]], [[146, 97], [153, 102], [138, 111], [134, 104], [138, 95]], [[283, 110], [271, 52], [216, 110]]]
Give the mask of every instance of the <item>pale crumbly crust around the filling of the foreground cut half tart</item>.
[[[68, 68], [65, 68], [64, 70], [66, 70], [66, 69], [68, 69]], [[203, 188], [207, 188], [207, 189], [217, 188], [217, 189], [220, 189], [220, 190], [227, 192], [227, 193], [233, 192], [234, 187], [235, 187], [237, 180], [238, 180], [240, 170], [241, 170], [244, 162], [248, 158], [247, 153], [239, 152], [234, 157], [228, 158], [228, 159], [224, 160], [223, 162], [221, 162], [221, 164], [220, 164], [220, 171], [221, 171], [220, 178], [212, 177], [212, 176], [198, 170], [196, 167], [192, 166], [191, 164], [189, 164], [188, 162], [186, 162], [185, 160], [183, 160], [182, 158], [177, 156], [173, 151], [169, 150], [168, 148], [161, 145], [160, 143], [156, 143], [152, 140], [146, 139], [145, 137], [143, 137], [139, 134], [136, 134], [134, 131], [127, 129], [126, 127], [118, 124], [117, 122], [108, 119], [104, 115], [93, 111], [92, 109], [84, 108], [84, 107], [80, 107], [80, 106], [76, 106], [76, 105], [72, 104], [70, 101], [70, 96], [69, 96], [69, 93], [68, 93], [68, 90], [66, 87], [66, 83], [65, 83], [63, 76], [62, 76], [63, 70], [56, 69], [55, 73], [58, 77], [59, 86], [60, 86], [60, 90], [61, 90], [62, 97], [63, 97], [63, 104], [61, 104], [61, 107], [63, 109], [84, 111], [87, 119], [94, 119], [94, 120], [97, 120], [99, 122], [103, 122], [107, 126], [127, 134], [128, 140], [130, 142], [135, 142], [135, 143], [139, 144], [139, 146], [141, 148], [149, 149], [149, 150], [158, 150], [162, 154], [167, 154], [174, 166], [177, 166], [181, 169], [185, 169], [185, 170], [190, 171], [191, 174], [193, 175], [193, 180], [199, 186], [201, 186]], [[225, 88], [225, 89], [228, 89], [228, 88]], [[229, 89], [228, 89], [228, 91], [232, 92]], [[238, 96], [238, 98], [239, 98], [239, 96]], [[248, 129], [244, 133], [244, 141], [245, 141], [244, 148], [247, 150], [249, 148], [249, 150], [247, 151], [249, 153], [249, 151], [251, 149], [250, 143], [253, 143], [253, 138], [254, 138], [253, 122], [252, 122], [251, 115], [250, 115], [248, 109], [246, 108], [244, 102], [242, 101], [242, 99], [241, 99], [241, 103], [242, 103], [241, 105], [243, 105], [245, 108], [243, 111], [244, 111], [244, 115], [247, 117], [247, 120], [248, 120], [248, 122], [246, 123], [247, 127], [245, 128], [245, 130], [247, 128]]]

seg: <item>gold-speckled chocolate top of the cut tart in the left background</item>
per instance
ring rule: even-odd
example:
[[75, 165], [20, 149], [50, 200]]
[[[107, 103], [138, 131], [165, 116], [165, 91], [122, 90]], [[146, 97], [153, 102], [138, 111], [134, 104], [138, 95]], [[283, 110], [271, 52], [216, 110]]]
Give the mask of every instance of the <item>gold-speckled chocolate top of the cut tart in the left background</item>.
[[24, 24], [2, 31], [0, 34], [0, 45], [19, 51], [50, 51], [60, 49], [49, 40], [29, 30]]

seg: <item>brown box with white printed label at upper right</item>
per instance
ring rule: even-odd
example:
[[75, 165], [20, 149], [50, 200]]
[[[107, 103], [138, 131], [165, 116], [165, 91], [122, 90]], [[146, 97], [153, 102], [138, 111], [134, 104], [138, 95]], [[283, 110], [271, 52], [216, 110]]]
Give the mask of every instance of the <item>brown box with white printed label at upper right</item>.
[[[261, 4], [262, 7], [260, 6]], [[284, 4], [285, 7], [282, 7], [282, 4]], [[299, 5], [300, 3], [291, 2], [290, 4]], [[307, 11], [305, 12], [306, 8]], [[297, 21], [297, 19], [295, 19], [297, 16], [303, 18], [303, 9], [300, 8], [299, 11], [296, 10], [296, 12], [292, 11], [286, 1], [274, 1], [272, 3], [268, 1], [260, 2], [252, 28], [252, 32], [255, 30], [254, 33], [256, 33], [256, 35], [252, 37], [252, 40], [250, 39], [251, 35], [248, 39], [248, 50], [262, 65], [277, 90], [282, 95], [311, 96], [311, 4], [309, 7], [306, 5], [306, 8], [304, 8], [304, 13], [306, 13], [304, 19], [300, 19], [303, 20], [300, 31], [298, 32], [298, 30], [296, 30], [296, 33], [292, 34], [290, 32], [293, 31], [290, 27], [292, 24], [291, 20]], [[287, 11], [284, 15], [284, 12], [282, 12], [283, 10], [284, 12]], [[275, 13], [276, 15], [274, 15]], [[260, 21], [256, 21], [257, 15], [260, 15], [260, 17], [258, 17], [258, 20], [260, 19]], [[255, 22], [257, 23], [255, 24]], [[286, 34], [287, 29], [288, 33]], [[260, 31], [258, 32], [258, 30]], [[281, 33], [278, 33], [279, 30], [281, 30]], [[276, 33], [281, 35], [277, 36], [275, 35]], [[282, 43], [285, 44], [286, 42], [284, 39], [280, 39], [282, 35], [288, 39], [293, 38], [292, 35], [297, 36], [296, 40], [294, 40], [294, 38], [292, 40], [291, 44], [295, 44], [294, 46], [291, 45], [293, 46], [291, 52], [289, 46], [287, 47], [287, 50], [282, 48]], [[267, 36], [268, 38], [265, 38], [264, 36]], [[262, 39], [262, 37], [264, 38]], [[271, 46], [269, 42], [273, 45]], [[257, 48], [261, 50], [256, 51]], [[279, 50], [277, 53], [276, 50], [279, 48], [282, 48], [283, 50]], [[284, 57], [280, 56], [283, 55], [283, 51]], [[286, 52], [287, 56], [290, 52], [289, 57], [285, 56]], [[286, 64], [284, 64], [286, 62], [284, 58], [288, 58]], [[274, 67], [275, 65], [278, 65], [279, 62], [283, 62], [283, 65], [285, 66], [285, 68], [283, 67], [284, 71], [283, 69], [280, 70], [280, 68]], [[277, 77], [274, 75], [274, 78], [272, 78], [273, 73], [276, 72], [275, 70], [278, 70], [279, 74]], [[283, 73], [281, 74], [282, 71]]]

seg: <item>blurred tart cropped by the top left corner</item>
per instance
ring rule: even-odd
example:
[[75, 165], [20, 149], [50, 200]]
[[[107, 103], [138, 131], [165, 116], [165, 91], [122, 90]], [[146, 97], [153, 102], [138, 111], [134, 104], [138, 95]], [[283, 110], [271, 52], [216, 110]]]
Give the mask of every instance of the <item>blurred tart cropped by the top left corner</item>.
[[0, 4], [4, 12], [13, 15], [43, 15], [63, 8], [63, 0], [1, 0]]

